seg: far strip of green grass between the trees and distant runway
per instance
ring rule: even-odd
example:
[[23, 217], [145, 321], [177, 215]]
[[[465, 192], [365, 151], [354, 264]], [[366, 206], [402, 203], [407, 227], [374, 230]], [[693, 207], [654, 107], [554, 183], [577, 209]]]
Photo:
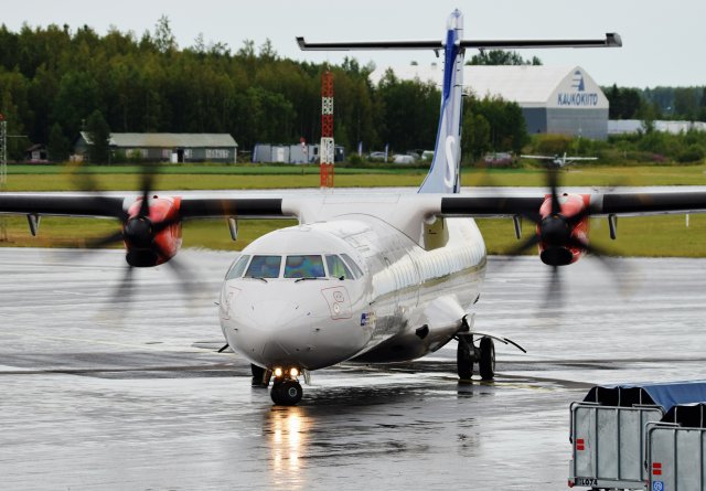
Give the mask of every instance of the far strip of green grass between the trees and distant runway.
[[[89, 175], [95, 189], [133, 190], [139, 186], [138, 166], [9, 166], [8, 191], [77, 190]], [[339, 188], [418, 186], [426, 169], [375, 168], [335, 170]], [[463, 169], [467, 186], [543, 186], [543, 169]], [[559, 172], [561, 185], [706, 185], [706, 166], [573, 167]], [[224, 190], [317, 188], [315, 166], [160, 166], [156, 190]]]

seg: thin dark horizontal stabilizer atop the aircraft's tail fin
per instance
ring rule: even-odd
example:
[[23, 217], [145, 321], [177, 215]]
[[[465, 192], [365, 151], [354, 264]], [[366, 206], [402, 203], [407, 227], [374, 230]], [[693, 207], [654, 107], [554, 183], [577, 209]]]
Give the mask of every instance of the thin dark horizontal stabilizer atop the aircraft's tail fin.
[[[308, 43], [297, 38], [302, 51], [353, 51], [353, 50], [443, 50], [443, 41], [360, 41], [336, 43]], [[620, 47], [620, 34], [609, 32], [599, 40], [505, 40], [505, 41], [460, 41], [460, 47], [479, 50], [520, 50], [538, 47]]]

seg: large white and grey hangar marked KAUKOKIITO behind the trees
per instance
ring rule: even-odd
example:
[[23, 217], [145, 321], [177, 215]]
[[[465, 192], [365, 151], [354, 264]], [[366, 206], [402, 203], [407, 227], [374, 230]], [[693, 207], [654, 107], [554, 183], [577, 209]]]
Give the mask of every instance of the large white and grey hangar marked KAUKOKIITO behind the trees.
[[[385, 68], [371, 74], [377, 84]], [[409, 65], [394, 67], [402, 79], [419, 78], [441, 84], [443, 68]], [[593, 139], [608, 137], [608, 98], [580, 66], [467, 65], [463, 84], [478, 97], [500, 96], [517, 103], [528, 134], [561, 134]]]

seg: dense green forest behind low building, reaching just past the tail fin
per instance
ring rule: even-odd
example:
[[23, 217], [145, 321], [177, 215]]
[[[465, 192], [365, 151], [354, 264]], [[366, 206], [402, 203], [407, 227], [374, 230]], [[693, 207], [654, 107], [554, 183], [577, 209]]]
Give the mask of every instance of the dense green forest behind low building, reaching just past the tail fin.
[[[246, 40], [234, 51], [199, 35], [180, 49], [165, 17], [141, 36], [117, 29], [99, 35], [87, 25], [24, 25], [19, 32], [2, 25], [0, 111], [9, 134], [25, 137], [9, 140], [10, 158], [18, 160], [30, 143], [46, 143], [53, 160], [64, 160], [88, 127], [227, 132], [240, 150], [257, 142], [315, 142], [321, 75], [331, 70], [339, 145], [356, 149], [362, 141], [366, 150], [388, 145], [396, 152], [432, 148], [439, 89], [392, 72], [374, 86], [368, 78], [374, 68], [354, 58], [335, 66], [282, 58], [269, 41], [256, 46]], [[480, 122], [471, 135], [478, 148], [507, 142], [494, 126], [507, 115], [489, 107], [503, 104], [467, 105], [469, 120]]]

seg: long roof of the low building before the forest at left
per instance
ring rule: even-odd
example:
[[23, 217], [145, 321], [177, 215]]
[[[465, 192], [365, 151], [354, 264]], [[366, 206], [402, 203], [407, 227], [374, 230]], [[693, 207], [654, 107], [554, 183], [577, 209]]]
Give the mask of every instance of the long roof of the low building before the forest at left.
[[[81, 136], [90, 143], [86, 131]], [[110, 134], [110, 145], [126, 148], [218, 148], [237, 147], [227, 134]]]

